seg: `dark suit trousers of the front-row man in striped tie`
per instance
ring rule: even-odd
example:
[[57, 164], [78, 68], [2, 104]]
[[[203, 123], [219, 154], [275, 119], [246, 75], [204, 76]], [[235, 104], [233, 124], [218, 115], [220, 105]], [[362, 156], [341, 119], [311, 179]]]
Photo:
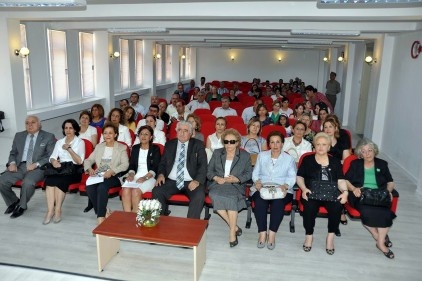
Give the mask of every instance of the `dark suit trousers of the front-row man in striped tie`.
[[156, 186], [152, 189], [152, 197], [160, 201], [162, 210], [161, 214], [167, 214], [168, 204], [167, 200], [174, 194], [183, 193], [189, 197], [188, 218], [199, 219], [204, 208], [205, 201], [205, 187], [200, 184], [197, 188], [190, 191], [188, 189], [189, 181], [185, 181], [185, 185], [181, 190], [176, 187], [176, 181], [166, 179], [166, 182], [161, 186]]

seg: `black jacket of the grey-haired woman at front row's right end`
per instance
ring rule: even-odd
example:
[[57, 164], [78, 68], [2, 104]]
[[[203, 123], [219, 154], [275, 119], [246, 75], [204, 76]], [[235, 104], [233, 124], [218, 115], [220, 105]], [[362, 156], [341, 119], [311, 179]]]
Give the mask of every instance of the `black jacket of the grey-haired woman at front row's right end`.
[[[376, 158], [375, 162], [375, 180], [378, 188], [387, 188], [387, 183], [393, 181], [388, 163], [382, 159]], [[356, 159], [350, 163], [350, 168], [346, 173], [346, 179], [356, 187], [363, 187], [365, 180], [365, 168], [363, 159]]]

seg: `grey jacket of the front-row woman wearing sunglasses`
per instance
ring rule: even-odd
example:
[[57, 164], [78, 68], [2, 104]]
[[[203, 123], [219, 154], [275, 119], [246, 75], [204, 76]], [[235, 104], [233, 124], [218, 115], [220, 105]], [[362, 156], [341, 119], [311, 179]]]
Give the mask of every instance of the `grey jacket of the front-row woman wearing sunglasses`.
[[[207, 173], [208, 180], [211, 181], [211, 184], [209, 185], [210, 189], [219, 185], [217, 182], [213, 181], [215, 176], [224, 177], [226, 159], [227, 153], [225, 148], [216, 149], [212, 153]], [[236, 149], [236, 153], [230, 167], [230, 175], [233, 175], [240, 180], [240, 183], [233, 183], [232, 185], [240, 191], [244, 190], [243, 184], [252, 178], [251, 157], [247, 151]]]

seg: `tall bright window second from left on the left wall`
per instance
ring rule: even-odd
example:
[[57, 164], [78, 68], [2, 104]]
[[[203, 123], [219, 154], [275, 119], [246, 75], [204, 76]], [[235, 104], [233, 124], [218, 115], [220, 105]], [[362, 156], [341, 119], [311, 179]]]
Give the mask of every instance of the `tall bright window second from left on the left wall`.
[[50, 56], [50, 84], [53, 104], [69, 100], [67, 77], [66, 33], [48, 30], [48, 53]]

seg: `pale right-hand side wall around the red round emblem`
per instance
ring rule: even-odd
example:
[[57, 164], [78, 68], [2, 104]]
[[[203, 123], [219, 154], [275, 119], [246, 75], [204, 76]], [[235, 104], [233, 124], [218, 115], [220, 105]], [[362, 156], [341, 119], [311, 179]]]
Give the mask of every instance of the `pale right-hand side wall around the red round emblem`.
[[410, 57], [412, 43], [421, 38], [422, 32], [395, 37], [394, 55], [389, 58], [392, 73], [388, 84], [381, 150], [409, 173], [422, 193], [422, 56], [417, 59]]

